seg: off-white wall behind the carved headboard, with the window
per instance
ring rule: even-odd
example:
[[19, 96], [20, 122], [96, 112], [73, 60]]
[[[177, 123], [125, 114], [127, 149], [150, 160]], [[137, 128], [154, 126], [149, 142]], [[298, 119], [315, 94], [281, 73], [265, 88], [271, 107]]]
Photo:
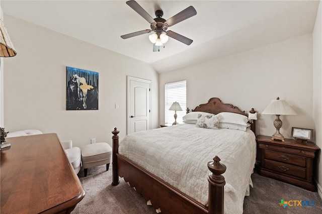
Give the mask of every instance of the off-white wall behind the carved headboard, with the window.
[[292, 127], [313, 129], [312, 118], [312, 35], [304, 35], [251, 51], [214, 59], [159, 76], [160, 123], [164, 122], [164, 85], [187, 80], [187, 106], [194, 109], [211, 97], [251, 108], [259, 114], [257, 134], [275, 133], [276, 116], [261, 115], [267, 104], [285, 99], [297, 113], [281, 116], [281, 133], [289, 138]]

